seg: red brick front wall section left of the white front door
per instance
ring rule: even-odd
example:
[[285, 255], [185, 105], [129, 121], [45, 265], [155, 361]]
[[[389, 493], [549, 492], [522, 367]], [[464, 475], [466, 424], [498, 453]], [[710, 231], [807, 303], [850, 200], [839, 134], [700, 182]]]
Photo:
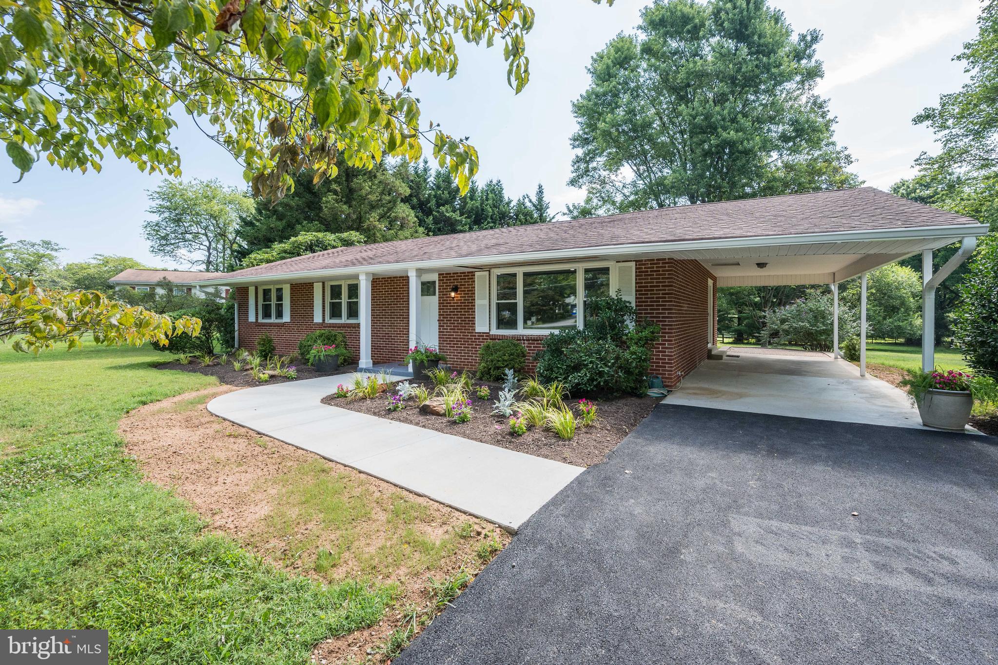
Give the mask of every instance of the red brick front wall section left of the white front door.
[[[353, 359], [360, 359], [360, 324], [312, 321], [311, 282], [291, 284], [291, 320], [286, 323], [250, 323], [249, 293], [245, 286], [236, 288], [242, 348], [255, 349], [256, 340], [267, 333], [273, 338], [277, 353], [297, 353], [298, 342], [302, 337], [313, 330], [328, 328], [341, 330], [346, 335]], [[375, 363], [400, 361], [407, 353], [408, 341], [409, 295], [406, 277], [375, 277], [371, 280], [371, 360]]]

